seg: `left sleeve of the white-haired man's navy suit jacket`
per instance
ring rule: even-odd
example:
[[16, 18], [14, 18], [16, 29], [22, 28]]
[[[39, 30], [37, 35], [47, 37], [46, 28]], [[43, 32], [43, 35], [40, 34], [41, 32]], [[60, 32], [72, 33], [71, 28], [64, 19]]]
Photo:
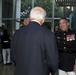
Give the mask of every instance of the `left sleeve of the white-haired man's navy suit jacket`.
[[15, 32], [11, 41], [11, 60], [16, 65], [16, 42], [17, 42], [17, 31]]

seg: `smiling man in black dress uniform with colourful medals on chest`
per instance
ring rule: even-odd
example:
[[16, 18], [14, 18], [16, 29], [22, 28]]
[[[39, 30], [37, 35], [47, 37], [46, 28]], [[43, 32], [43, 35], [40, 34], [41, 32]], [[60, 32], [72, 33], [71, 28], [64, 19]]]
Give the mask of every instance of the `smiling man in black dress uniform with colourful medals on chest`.
[[63, 17], [59, 21], [61, 31], [56, 34], [59, 52], [59, 75], [75, 75], [76, 32], [69, 28], [69, 21]]

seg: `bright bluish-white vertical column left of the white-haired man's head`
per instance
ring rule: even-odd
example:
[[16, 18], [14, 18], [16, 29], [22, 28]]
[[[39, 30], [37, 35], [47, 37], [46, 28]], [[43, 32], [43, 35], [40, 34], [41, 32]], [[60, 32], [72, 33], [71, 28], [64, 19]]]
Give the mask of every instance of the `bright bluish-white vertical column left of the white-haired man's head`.
[[16, 1], [16, 30], [20, 28], [21, 0]]

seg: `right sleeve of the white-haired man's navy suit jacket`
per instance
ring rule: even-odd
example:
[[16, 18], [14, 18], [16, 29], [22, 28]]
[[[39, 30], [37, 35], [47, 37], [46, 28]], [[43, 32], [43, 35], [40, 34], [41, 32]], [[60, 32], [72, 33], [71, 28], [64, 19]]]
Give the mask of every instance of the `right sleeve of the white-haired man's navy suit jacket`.
[[50, 31], [46, 32], [45, 40], [48, 68], [54, 74], [58, 69], [58, 51], [54, 33]]

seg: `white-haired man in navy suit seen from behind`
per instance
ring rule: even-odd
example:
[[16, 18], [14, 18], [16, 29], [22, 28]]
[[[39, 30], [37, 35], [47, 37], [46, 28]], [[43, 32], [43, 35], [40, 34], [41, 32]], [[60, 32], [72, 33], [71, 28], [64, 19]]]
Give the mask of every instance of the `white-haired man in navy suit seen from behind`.
[[49, 75], [58, 68], [58, 52], [54, 33], [41, 25], [46, 11], [35, 7], [30, 23], [16, 31], [11, 43], [11, 59], [15, 75]]

